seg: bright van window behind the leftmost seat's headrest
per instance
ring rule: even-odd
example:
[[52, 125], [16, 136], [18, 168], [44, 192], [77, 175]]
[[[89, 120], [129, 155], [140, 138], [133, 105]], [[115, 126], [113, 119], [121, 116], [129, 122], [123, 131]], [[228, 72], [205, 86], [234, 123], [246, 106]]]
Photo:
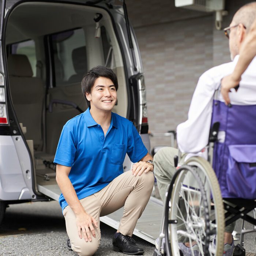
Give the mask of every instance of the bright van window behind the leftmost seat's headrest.
[[28, 57], [33, 76], [36, 76], [37, 59], [35, 56], [35, 42], [34, 40], [27, 40], [11, 45], [11, 54], [24, 54]]

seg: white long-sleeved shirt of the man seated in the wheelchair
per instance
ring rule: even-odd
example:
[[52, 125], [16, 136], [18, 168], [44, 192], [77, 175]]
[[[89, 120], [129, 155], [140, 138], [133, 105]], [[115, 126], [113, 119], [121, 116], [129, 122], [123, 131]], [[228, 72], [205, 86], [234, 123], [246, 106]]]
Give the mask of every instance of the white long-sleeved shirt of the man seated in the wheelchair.
[[[193, 153], [206, 158], [201, 151], [207, 146], [212, 113], [212, 101], [215, 90], [221, 85], [221, 79], [233, 72], [238, 61], [213, 67], [200, 76], [188, 111], [188, 120], [177, 126], [177, 143], [183, 153]], [[256, 105], [256, 57], [242, 75], [237, 92], [231, 89], [230, 102], [234, 105]], [[221, 93], [218, 100], [223, 101]], [[186, 157], [188, 158], [188, 157]]]

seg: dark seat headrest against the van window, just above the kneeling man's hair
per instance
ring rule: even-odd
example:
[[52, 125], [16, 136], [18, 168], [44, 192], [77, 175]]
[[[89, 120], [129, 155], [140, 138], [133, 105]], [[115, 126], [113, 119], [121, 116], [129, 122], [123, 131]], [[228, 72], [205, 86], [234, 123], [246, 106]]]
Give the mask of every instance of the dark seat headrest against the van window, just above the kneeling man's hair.
[[76, 74], [87, 72], [86, 46], [72, 50], [72, 61]]

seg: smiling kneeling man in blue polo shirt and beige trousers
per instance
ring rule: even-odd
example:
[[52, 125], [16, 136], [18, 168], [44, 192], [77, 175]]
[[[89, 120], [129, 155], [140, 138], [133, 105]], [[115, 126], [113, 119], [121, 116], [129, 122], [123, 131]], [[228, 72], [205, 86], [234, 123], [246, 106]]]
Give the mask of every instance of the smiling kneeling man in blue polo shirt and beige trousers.
[[[112, 113], [117, 89], [109, 68], [98, 66], [84, 75], [82, 92], [89, 108], [64, 125], [54, 158], [67, 243], [78, 255], [97, 251], [99, 217], [123, 206], [114, 251], [144, 253], [131, 236], [153, 189], [154, 166], [132, 122]], [[126, 153], [137, 163], [124, 173]]]

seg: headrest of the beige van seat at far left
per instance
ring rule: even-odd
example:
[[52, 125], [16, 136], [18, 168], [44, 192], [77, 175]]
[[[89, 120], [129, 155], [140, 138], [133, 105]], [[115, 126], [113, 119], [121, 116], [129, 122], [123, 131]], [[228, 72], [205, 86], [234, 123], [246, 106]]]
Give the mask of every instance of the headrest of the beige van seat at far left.
[[29, 59], [23, 54], [10, 54], [7, 60], [8, 72], [11, 76], [32, 77], [33, 71]]

